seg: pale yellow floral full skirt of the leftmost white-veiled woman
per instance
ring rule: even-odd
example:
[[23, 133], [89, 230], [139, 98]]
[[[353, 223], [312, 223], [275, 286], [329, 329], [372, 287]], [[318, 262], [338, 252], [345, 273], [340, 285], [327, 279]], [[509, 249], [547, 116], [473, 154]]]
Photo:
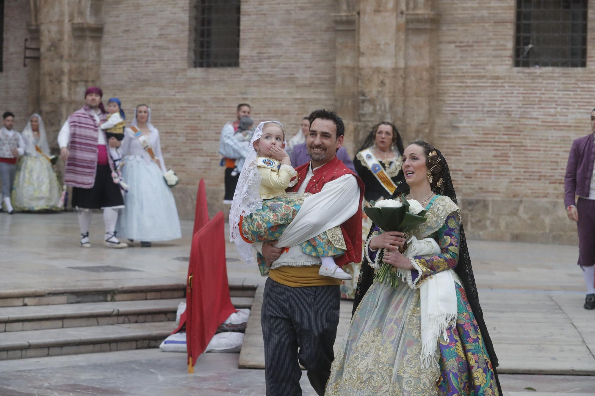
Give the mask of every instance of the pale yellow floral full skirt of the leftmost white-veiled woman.
[[[35, 139], [35, 144], [39, 138]], [[29, 210], [61, 210], [62, 188], [45, 155], [33, 150], [26, 152], [17, 164], [11, 200], [17, 212]]]

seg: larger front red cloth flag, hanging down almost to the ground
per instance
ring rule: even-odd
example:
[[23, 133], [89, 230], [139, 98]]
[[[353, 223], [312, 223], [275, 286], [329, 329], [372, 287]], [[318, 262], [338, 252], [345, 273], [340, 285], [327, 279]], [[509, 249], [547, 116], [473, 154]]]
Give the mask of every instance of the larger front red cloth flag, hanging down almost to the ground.
[[219, 325], [236, 312], [227, 281], [223, 212], [194, 234], [188, 273], [186, 346], [192, 373]]

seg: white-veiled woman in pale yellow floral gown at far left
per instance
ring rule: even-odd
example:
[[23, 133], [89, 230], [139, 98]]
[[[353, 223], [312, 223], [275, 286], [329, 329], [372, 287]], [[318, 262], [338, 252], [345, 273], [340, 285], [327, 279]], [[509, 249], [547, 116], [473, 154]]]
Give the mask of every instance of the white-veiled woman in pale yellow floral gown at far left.
[[29, 118], [21, 133], [25, 153], [17, 165], [12, 205], [17, 211], [60, 210], [62, 189], [52, 168], [48, 138], [39, 114]]

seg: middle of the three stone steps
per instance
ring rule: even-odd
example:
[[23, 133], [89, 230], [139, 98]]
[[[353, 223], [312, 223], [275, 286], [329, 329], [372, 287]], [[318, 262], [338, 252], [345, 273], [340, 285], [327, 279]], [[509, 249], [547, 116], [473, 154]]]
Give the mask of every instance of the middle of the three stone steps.
[[[176, 320], [180, 298], [0, 308], [0, 332], [115, 325]], [[236, 308], [253, 298], [231, 297]]]

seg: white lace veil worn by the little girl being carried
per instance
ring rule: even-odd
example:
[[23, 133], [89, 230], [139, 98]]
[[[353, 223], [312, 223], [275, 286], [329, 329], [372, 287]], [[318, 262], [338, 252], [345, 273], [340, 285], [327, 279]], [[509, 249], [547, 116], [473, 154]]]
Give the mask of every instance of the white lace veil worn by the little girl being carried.
[[248, 146], [248, 154], [246, 161], [240, 172], [240, 178], [237, 181], [236, 192], [233, 194], [233, 202], [231, 203], [231, 210], [229, 212], [229, 240], [236, 243], [237, 251], [242, 256], [242, 259], [247, 263], [251, 263], [254, 258], [252, 256], [252, 246], [242, 239], [240, 235], [239, 222], [241, 216], [248, 216], [250, 213], [262, 208], [262, 199], [258, 193], [262, 177], [258, 168], [256, 167], [256, 150], [254, 149], [254, 142], [262, 136], [262, 127], [268, 122], [275, 122], [281, 128], [279, 121], [264, 121], [258, 124], [250, 146]]

